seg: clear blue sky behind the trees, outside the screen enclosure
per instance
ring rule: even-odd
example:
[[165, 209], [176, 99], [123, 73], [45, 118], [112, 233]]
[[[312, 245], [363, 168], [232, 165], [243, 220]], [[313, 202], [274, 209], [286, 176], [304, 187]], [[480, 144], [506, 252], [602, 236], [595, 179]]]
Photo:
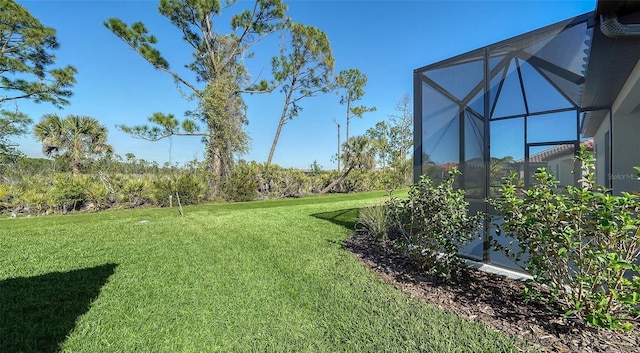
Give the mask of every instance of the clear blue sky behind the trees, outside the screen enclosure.
[[[34, 121], [57, 113], [89, 115], [109, 129], [109, 142], [121, 156], [133, 153], [160, 164], [169, 160], [170, 142], [147, 142], [131, 138], [115, 126], [144, 124], [154, 112], [181, 118], [195, 106], [188, 102], [166, 74], [129, 49], [111, 34], [103, 22], [118, 17], [127, 23], [142, 21], [158, 38], [158, 48], [172, 68], [193, 78], [182, 67], [191, 52], [180, 33], [157, 12], [155, 0], [110, 1], [18, 1], [57, 30], [61, 46], [57, 66], [74, 65], [79, 73], [71, 104], [57, 109], [48, 104], [19, 102], [18, 108]], [[394, 106], [405, 93], [412, 94], [413, 70], [478, 47], [592, 11], [589, 1], [324, 1], [289, 0], [292, 20], [325, 31], [336, 60], [336, 73], [358, 68], [368, 76], [365, 95], [359, 104], [375, 106], [376, 112], [352, 120], [350, 135], [364, 133], [376, 122], [394, 114]], [[251, 5], [240, 0], [229, 15]], [[237, 10], [234, 10], [237, 9]], [[214, 23], [220, 29], [226, 19]], [[277, 35], [254, 47], [255, 56], [246, 60], [254, 77], [271, 77], [270, 59], [277, 54]], [[252, 138], [251, 150], [242, 156], [264, 162], [277, 127], [283, 98], [278, 92], [245, 96]], [[336, 167], [335, 118], [344, 137], [345, 107], [337, 94], [325, 94], [302, 101], [299, 117], [285, 125], [274, 156], [284, 167], [308, 168], [315, 160], [326, 169]], [[5, 106], [3, 108], [9, 108]], [[11, 106], [14, 108], [14, 106]], [[29, 156], [42, 156], [40, 145], [29, 135], [15, 139]], [[171, 161], [202, 160], [204, 147], [197, 137], [174, 137]]]

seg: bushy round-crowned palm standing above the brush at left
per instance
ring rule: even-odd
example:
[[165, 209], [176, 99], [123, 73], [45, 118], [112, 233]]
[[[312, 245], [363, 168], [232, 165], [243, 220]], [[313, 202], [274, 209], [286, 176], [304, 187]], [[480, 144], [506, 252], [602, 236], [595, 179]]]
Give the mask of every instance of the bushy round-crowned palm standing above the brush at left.
[[73, 175], [87, 160], [112, 152], [107, 142], [107, 128], [88, 116], [68, 115], [61, 119], [47, 114], [35, 125], [34, 134], [47, 156], [59, 156], [71, 164]]

